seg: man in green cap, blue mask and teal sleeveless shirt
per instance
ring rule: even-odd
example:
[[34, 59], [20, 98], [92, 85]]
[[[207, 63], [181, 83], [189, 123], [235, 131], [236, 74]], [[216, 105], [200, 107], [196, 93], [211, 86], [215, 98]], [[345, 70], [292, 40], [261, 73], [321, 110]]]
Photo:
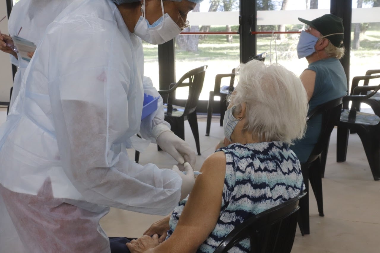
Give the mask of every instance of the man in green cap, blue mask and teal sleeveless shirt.
[[[344, 55], [344, 27], [340, 17], [325, 14], [312, 21], [298, 18], [309, 27], [301, 32], [298, 58], [306, 57], [309, 66], [300, 76], [309, 99], [309, 111], [347, 94], [347, 77], [339, 59]], [[303, 139], [292, 145], [299, 161], [306, 163], [321, 131], [322, 117], [309, 120]]]

